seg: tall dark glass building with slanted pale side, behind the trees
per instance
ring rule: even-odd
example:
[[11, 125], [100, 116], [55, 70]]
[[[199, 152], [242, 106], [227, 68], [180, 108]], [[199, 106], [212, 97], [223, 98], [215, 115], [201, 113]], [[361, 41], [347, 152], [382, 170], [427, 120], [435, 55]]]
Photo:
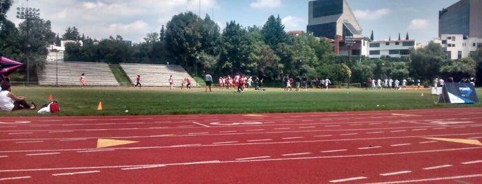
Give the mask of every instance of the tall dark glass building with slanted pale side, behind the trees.
[[361, 27], [345, 0], [317, 0], [308, 3], [308, 32], [335, 39], [336, 35], [363, 38]]

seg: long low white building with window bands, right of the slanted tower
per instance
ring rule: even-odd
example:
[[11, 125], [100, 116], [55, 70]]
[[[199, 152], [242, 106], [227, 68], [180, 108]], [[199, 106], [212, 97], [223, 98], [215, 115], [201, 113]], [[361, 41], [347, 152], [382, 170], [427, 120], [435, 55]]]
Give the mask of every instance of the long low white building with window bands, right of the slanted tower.
[[396, 41], [371, 41], [368, 43], [368, 58], [380, 58], [389, 56], [390, 58], [400, 58], [409, 56], [409, 49], [415, 47], [415, 40], [396, 40]]

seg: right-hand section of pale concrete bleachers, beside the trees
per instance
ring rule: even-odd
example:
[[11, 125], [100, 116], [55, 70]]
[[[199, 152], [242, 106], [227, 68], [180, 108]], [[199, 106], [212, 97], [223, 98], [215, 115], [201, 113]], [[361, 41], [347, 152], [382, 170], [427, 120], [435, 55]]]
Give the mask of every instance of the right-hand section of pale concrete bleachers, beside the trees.
[[200, 87], [180, 65], [152, 65], [152, 64], [119, 64], [132, 84], [136, 83], [137, 75], [141, 75], [143, 87], [170, 87], [169, 77], [174, 78], [174, 87], [181, 87], [183, 78], [189, 78], [191, 87]]

